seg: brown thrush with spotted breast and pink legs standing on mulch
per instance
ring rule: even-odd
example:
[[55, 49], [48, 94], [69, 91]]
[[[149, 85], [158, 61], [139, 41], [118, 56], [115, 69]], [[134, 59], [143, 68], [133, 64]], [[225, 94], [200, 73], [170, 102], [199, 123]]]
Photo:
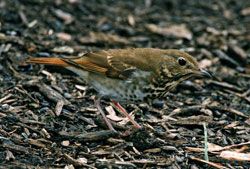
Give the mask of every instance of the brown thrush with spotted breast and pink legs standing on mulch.
[[[89, 52], [81, 57], [29, 58], [27, 63], [62, 66], [73, 71], [93, 86], [99, 96], [112, 99], [137, 128], [140, 125], [116, 101], [162, 99], [184, 80], [210, 77], [207, 71], [199, 68], [194, 57], [175, 49], [110, 49]], [[100, 107], [99, 99], [96, 106], [108, 127], [114, 130]]]

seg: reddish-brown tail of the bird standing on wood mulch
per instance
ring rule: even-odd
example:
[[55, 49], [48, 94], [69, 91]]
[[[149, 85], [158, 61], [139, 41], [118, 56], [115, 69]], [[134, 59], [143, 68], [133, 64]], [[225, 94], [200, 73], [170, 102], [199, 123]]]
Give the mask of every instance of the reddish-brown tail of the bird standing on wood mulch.
[[63, 67], [68, 66], [68, 63], [66, 63], [60, 58], [45, 58], [45, 57], [33, 58], [32, 57], [26, 60], [26, 63], [37, 63], [37, 64], [55, 65], [55, 66], [63, 66]]

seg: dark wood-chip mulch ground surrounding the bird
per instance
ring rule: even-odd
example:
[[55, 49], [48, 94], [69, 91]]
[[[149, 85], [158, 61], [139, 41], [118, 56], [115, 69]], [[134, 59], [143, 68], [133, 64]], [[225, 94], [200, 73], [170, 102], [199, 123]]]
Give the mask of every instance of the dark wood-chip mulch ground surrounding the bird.
[[[131, 47], [187, 51], [213, 78], [123, 104], [143, 128], [110, 114], [114, 133], [84, 79], [24, 62]], [[250, 168], [249, 145], [250, 1], [0, 1], [2, 168]]]

